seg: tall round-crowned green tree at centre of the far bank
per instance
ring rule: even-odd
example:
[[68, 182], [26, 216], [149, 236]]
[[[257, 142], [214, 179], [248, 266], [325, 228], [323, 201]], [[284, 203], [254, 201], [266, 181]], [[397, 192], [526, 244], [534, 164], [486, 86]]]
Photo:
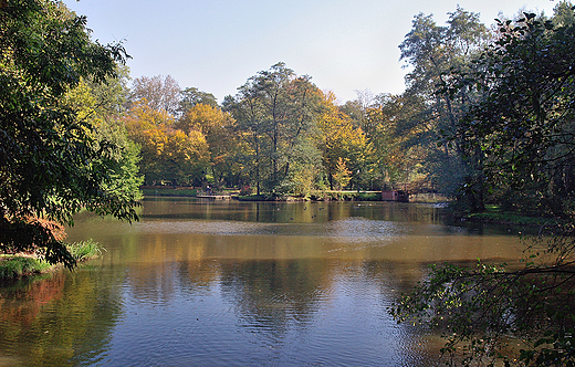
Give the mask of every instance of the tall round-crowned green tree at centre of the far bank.
[[[321, 107], [321, 92], [309, 76], [296, 76], [284, 63], [259, 72], [241, 86], [236, 97], [227, 97], [231, 112], [249, 145], [248, 166], [253, 171], [258, 192], [289, 187], [292, 162], [314, 166], [314, 117]], [[301, 154], [305, 151], [305, 154]], [[316, 151], [315, 151], [316, 153]]]

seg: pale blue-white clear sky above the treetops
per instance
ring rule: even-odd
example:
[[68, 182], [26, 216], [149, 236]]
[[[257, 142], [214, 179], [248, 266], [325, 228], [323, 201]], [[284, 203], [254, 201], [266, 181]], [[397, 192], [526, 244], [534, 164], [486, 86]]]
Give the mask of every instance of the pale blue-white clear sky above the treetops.
[[356, 91], [399, 94], [398, 45], [414, 15], [445, 25], [458, 4], [491, 25], [500, 13], [553, 14], [558, 0], [64, 0], [87, 17], [94, 40], [123, 41], [132, 78], [171, 75], [219, 102], [284, 62], [339, 103]]

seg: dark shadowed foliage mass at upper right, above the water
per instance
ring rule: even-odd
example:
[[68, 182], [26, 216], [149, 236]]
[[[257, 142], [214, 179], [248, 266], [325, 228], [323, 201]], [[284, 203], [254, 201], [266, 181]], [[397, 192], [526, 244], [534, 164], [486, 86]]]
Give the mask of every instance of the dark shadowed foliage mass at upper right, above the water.
[[[509, 208], [563, 216], [573, 203], [575, 174], [575, 27], [525, 13], [500, 21], [500, 38], [458, 73], [454, 88], [484, 97], [461, 119], [457, 139], [464, 155]], [[573, 11], [571, 11], [573, 19]], [[511, 193], [511, 195], [508, 195]]]

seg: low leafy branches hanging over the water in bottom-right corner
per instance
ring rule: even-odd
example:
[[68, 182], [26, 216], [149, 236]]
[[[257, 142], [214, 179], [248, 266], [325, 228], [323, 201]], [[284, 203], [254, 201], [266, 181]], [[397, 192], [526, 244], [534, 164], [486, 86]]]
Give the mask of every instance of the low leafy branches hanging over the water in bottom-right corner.
[[[573, 365], [573, 269], [568, 263], [535, 264], [536, 259], [532, 255], [518, 271], [483, 263], [475, 269], [432, 266], [390, 313], [398, 322], [440, 331], [449, 365]], [[521, 348], [510, 348], [510, 343]]]

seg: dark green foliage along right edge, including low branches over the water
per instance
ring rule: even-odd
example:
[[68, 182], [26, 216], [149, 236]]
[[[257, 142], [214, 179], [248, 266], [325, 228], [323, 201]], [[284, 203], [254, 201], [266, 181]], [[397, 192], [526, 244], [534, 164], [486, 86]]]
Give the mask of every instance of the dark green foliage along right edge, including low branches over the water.
[[566, 8], [557, 6], [556, 20], [499, 21], [496, 41], [473, 61], [478, 72], [454, 76], [452, 92], [487, 94], [460, 120], [463, 151], [479, 146], [488, 184], [529, 200], [529, 209], [516, 205], [546, 222], [526, 239], [521, 265], [436, 268], [391, 310], [442, 331], [445, 353], [462, 358], [453, 365], [575, 366], [575, 14]]

